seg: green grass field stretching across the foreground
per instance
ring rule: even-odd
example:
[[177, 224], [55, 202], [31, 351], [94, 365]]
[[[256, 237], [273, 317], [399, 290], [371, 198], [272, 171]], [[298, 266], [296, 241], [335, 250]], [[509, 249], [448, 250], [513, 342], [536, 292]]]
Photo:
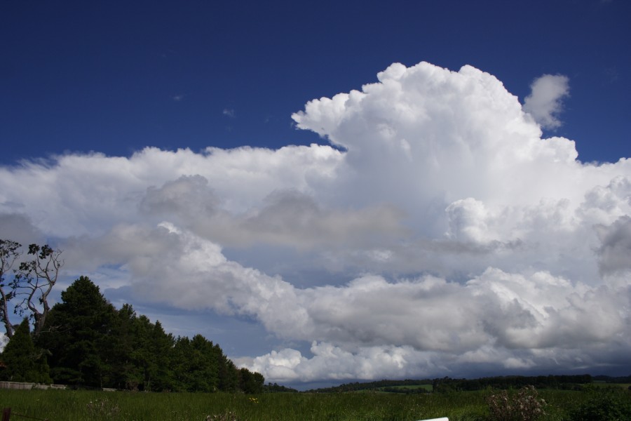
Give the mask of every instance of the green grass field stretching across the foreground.
[[[49, 421], [414, 421], [449, 417], [484, 420], [490, 392], [450, 394], [185, 394], [0, 390], [0, 408], [11, 421], [36, 417]], [[620, 392], [622, 393], [622, 392]], [[549, 403], [542, 420], [567, 420], [568, 411], [590, 396], [586, 392], [540, 391]], [[629, 396], [628, 394], [626, 395]], [[228, 413], [231, 415], [226, 416]]]

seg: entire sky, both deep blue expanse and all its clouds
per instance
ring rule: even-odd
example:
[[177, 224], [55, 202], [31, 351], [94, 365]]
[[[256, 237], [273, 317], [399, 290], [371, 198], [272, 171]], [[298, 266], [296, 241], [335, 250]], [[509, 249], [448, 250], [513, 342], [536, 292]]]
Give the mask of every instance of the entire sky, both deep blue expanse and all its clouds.
[[266, 381], [631, 370], [631, 4], [0, 6], [0, 236]]

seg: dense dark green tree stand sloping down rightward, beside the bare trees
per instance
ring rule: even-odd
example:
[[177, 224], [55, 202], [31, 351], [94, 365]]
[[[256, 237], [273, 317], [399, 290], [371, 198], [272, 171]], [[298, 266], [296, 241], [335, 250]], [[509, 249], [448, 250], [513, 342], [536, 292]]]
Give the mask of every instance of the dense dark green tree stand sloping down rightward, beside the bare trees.
[[86, 276], [61, 294], [37, 345], [50, 352], [56, 383], [145, 392], [263, 391], [259, 373], [238, 369], [202, 335], [173, 338], [161, 323], [116, 310]]

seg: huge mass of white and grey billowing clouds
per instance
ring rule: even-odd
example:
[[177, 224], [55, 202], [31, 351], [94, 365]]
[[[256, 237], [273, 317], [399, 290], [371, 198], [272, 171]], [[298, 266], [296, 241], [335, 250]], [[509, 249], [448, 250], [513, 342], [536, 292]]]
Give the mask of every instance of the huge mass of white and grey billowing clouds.
[[278, 348], [235, 356], [266, 381], [627, 369], [631, 161], [542, 138], [568, 86], [522, 106], [474, 67], [394, 64], [292, 116], [335, 147], [20, 163], [0, 225], [69, 276], [257, 321]]

